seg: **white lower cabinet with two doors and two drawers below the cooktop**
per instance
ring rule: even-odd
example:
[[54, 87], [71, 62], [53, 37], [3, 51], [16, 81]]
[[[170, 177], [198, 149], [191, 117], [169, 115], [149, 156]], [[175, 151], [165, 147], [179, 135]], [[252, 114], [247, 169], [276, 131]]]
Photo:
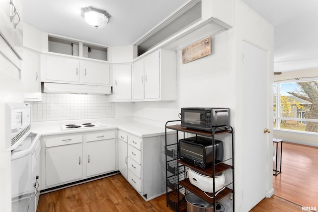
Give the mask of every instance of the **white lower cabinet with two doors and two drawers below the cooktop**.
[[41, 141], [43, 190], [116, 170], [114, 130], [44, 136]]

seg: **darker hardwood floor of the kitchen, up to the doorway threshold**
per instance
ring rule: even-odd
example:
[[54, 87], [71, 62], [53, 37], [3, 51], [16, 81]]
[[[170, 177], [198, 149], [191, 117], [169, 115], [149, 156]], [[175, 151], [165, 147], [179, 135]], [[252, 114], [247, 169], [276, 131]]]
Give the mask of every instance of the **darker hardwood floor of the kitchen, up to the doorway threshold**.
[[[265, 198], [251, 212], [300, 212], [279, 197]], [[121, 174], [41, 194], [37, 212], [173, 212], [165, 195], [146, 202]]]

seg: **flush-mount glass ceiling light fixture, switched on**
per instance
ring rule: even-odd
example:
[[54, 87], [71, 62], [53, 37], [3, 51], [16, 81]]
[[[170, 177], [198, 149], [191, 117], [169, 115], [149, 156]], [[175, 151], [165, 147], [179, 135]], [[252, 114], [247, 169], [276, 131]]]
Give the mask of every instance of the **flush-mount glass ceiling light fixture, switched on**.
[[83, 16], [88, 25], [98, 29], [106, 26], [111, 15], [106, 10], [86, 6], [81, 8], [81, 16]]

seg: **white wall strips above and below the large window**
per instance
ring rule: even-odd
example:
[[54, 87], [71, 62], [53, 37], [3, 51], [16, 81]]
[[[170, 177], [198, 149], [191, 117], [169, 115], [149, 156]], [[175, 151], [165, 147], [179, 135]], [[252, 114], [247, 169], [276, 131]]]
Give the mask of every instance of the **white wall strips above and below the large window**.
[[[274, 75], [274, 81], [288, 80], [294, 78], [318, 77], [318, 68], [301, 70], [301, 71], [288, 71], [280, 75]], [[318, 146], [317, 135], [306, 135], [298, 132], [286, 132], [282, 130], [274, 130], [274, 138], [282, 139], [295, 143], [307, 144]]]

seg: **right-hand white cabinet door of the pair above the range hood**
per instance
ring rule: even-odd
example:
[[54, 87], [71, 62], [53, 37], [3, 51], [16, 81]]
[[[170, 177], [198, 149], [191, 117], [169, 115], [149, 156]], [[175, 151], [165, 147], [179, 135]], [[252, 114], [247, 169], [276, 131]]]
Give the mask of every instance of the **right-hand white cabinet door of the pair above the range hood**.
[[83, 76], [83, 83], [110, 85], [109, 64], [80, 61], [79, 67]]

